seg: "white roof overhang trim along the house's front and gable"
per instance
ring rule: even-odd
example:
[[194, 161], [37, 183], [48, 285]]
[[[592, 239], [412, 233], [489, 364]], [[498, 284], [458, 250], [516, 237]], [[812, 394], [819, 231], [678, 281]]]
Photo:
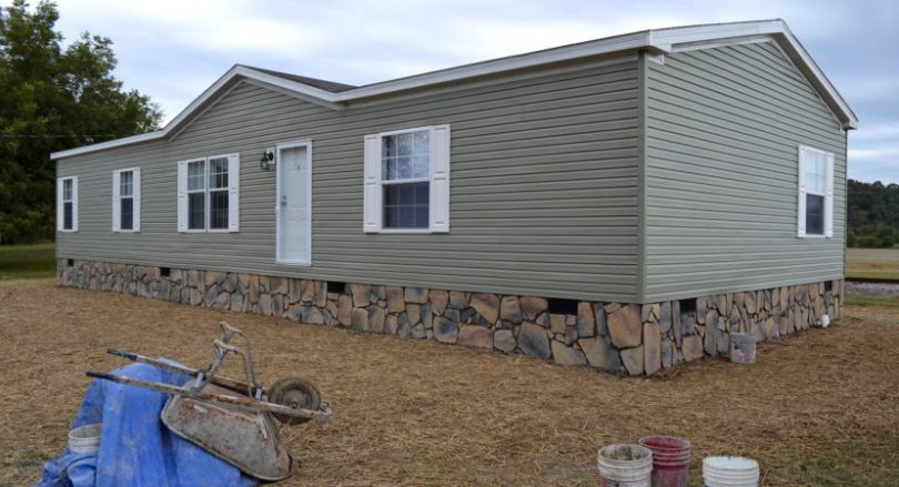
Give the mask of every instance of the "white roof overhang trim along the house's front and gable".
[[423, 89], [432, 85], [583, 58], [637, 51], [649, 51], [651, 54], [666, 54], [681, 50], [765, 40], [777, 42], [781, 50], [818, 91], [825, 103], [830, 106], [844, 129], [849, 130], [858, 126], [858, 119], [842, 97], [837, 92], [837, 89], [834, 88], [809, 53], [802, 48], [802, 44], [796, 39], [786, 22], [777, 19], [646, 30], [366, 84], [341, 92], [322, 90], [310, 84], [236, 64], [219, 78], [163, 129], [109, 142], [53, 152], [50, 154], [50, 158], [64, 159], [123, 145], [168, 139], [180, 132], [196, 113], [205, 110], [222, 92], [229, 90], [241, 80], [270, 85], [280, 91], [315, 101], [334, 110], [340, 110], [350, 102], [373, 97], [388, 95], [407, 90]]

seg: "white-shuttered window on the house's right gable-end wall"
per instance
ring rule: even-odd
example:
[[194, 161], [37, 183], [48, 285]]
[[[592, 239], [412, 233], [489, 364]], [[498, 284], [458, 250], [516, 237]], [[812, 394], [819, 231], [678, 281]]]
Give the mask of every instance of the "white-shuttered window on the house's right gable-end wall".
[[800, 237], [834, 236], [834, 154], [799, 148]]

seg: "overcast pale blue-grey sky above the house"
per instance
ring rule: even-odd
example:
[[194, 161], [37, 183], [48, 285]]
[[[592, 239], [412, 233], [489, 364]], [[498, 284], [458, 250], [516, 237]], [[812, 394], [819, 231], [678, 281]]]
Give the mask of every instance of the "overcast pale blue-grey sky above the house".
[[[0, 4], [9, 4], [0, 0]], [[59, 0], [175, 116], [235, 63], [365, 84], [644, 29], [782, 18], [860, 119], [849, 176], [899, 183], [899, 1]]]

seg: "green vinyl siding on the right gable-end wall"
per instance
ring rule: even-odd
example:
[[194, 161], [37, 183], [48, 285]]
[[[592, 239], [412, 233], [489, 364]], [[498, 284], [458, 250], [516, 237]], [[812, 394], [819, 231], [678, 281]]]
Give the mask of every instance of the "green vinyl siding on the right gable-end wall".
[[[772, 43], [647, 62], [644, 302], [844, 275], [846, 133]], [[834, 237], [797, 236], [798, 148], [835, 154]]]

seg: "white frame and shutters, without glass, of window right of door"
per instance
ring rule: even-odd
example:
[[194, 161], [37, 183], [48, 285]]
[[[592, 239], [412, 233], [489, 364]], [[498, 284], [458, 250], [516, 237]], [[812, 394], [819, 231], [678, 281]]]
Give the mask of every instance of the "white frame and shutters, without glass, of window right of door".
[[[384, 139], [391, 135], [400, 135], [404, 133], [415, 133], [415, 132], [424, 132], [428, 133], [428, 160], [427, 160], [427, 177], [408, 177], [403, 180], [385, 180], [383, 177], [384, 172], [384, 156], [383, 156], [383, 144]], [[441, 155], [437, 152], [437, 145], [441, 143], [437, 132], [441, 132], [440, 136], [445, 136], [445, 155]], [[445, 135], [444, 135], [445, 134]], [[365, 216], [363, 216], [363, 233], [367, 234], [445, 234], [450, 232], [448, 225], [448, 194], [450, 194], [450, 143], [451, 143], [451, 134], [450, 134], [450, 125], [448, 124], [440, 124], [440, 125], [424, 125], [424, 126], [413, 126], [406, 129], [397, 129], [397, 130], [390, 130], [384, 132], [378, 132], [376, 134], [366, 135], [366, 141], [368, 138], [376, 138], [377, 140], [377, 151], [376, 151], [376, 164], [375, 168], [372, 169], [374, 174], [366, 174], [365, 175], [365, 183], [367, 186], [373, 186], [376, 194], [373, 195], [373, 201], [376, 201], [376, 211], [378, 213], [377, 216], [377, 225], [370, 226]], [[366, 151], [367, 142], [365, 142]], [[367, 154], [364, 154], [367, 158]], [[442, 162], [444, 168], [442, 170], [441, 175], [436, 174], [438, 171], [436, 170], [436, 158], [444, 156], [446, 160]], [[368, 171], [366, 169], [366, 171]], [[376, 181], [372, 181], [372, 180]], [[446, 212], [447, 216], [446, 223], [442, 224], [441, 227], [437, 227], [438, 224], [435, 222], [435, 203], [437, 203], [435, 187], [437, 182], [441, 182], [443, 185], [443, 192], [445, 193], [446, 202]], [[411, 183], [428, 183], [428, 216], [427, 216], [427, 226], [423, 227], [408, 227], [408, 229], [390, 229], [384, 226], [384, 186], [385, 185], [400, 185], [400, 184], [411, 184]], [[367, 191], [367, 190], [366, 190]], [[363, 205], [368, 204], [368, 199], [365, 197], [365, 202]], [[365, 213], [365, 211], [363, 211]]]

